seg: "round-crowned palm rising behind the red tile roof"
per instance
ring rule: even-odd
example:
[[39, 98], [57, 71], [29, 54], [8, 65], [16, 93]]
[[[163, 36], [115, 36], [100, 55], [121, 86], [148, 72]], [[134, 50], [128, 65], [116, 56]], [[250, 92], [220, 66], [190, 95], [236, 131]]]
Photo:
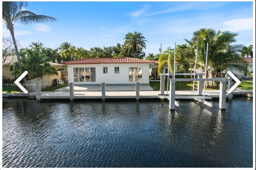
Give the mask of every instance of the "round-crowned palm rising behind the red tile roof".
[[[142, 36], [140, 32], [134, 31], [134, 34], [131, 32], [128, 32], [128, 34], [125, 35], [125, 41], [124, 41], [124, 48], [128, 49], [129, 51], [132, 49], [133, 57], [136, 58], [136, 53], [140, 48], [146, 49], [146, 43], [145, 37]], [[123, 39], [123, 40], [124, 40]]]

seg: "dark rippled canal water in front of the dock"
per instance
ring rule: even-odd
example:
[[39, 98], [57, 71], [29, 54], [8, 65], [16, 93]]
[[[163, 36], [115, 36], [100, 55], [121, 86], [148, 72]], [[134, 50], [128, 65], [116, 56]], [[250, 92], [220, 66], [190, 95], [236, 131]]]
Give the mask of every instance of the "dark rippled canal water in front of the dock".
[[3, 167], [252, 167], [252, 101], [3, 102]]

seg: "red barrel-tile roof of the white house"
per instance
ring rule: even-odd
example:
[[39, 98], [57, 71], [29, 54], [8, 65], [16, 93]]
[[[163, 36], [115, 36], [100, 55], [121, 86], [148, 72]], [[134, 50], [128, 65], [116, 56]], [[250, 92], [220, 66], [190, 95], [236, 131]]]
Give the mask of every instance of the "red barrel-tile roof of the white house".
[[154, 64], [154, 61], [130, 58], [130, 57], [120, 57], [120, 58], [86, 58], [72, 61], [64, 61], [61, 64], [65, 65], [77, 65], [77, 64], [127, 64], [127, 63], [149, 63]]

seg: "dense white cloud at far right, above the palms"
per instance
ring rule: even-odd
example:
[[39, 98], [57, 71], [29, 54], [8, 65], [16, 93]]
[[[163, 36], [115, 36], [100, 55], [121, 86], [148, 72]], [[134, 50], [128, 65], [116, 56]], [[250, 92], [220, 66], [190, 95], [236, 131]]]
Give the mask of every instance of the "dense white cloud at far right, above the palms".
[[224, 21], [222, 23], [224, 28], [221, 30], [229, 30], [232, 32], [239, 32], [239, 31], [248, 31], [252, 30], [253, 19], [252, 18], [242, 18], [242, 19], [234, 19]]

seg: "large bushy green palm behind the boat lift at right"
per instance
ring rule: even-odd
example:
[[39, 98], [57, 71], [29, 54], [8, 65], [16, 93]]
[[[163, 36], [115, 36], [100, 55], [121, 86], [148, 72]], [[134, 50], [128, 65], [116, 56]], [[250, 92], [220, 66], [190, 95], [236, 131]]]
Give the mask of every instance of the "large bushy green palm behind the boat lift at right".
[[191, 41], [185, 40], [192, 47], [198, 47], [197, 64], [205, 70], [207, 70], [205, 68], [205, 60], [206, 44], [208, 43], [208, 65], [212, 67], [212, 77], [216, 77], [217, 70], [221, 67], [248, 72], [248, 69], [244, 67], [244, 62], [238, 55], [243, 45], [230, 45], [236, 42], [235, 37], [237, 35], [229, 31], [216, 32], [212, 29], [201, 29], [194, 32], [194, 37]]

